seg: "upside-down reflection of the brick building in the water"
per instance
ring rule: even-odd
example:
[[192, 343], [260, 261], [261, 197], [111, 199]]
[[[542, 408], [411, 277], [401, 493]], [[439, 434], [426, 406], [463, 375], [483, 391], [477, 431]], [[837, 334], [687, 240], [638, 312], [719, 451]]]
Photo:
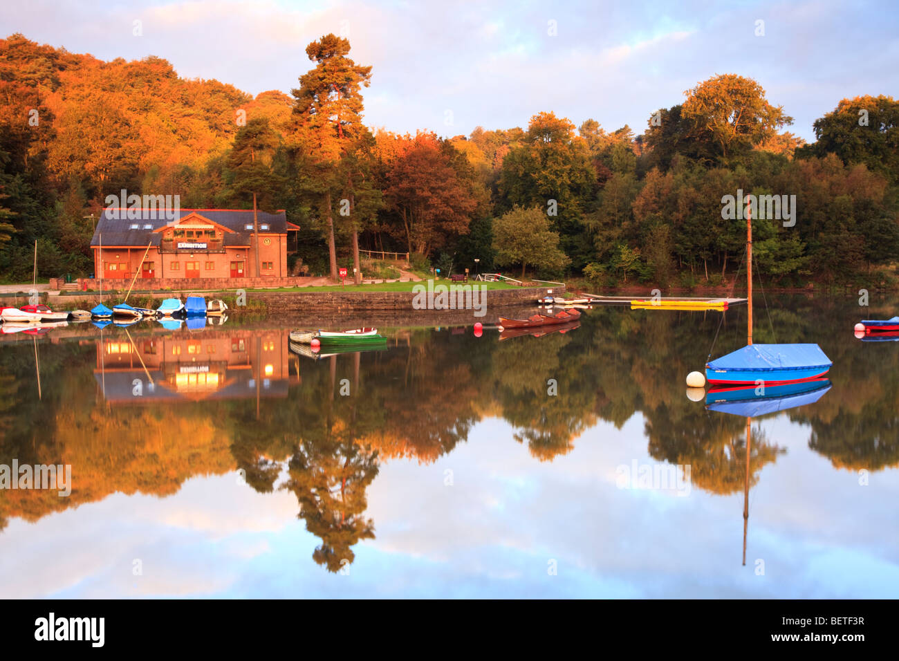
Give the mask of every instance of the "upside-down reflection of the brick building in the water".
[[287, 397], [288, 335], [280, 330], [206, 329], [97, 340], [94, 377], [107, 401], [142, 402]]

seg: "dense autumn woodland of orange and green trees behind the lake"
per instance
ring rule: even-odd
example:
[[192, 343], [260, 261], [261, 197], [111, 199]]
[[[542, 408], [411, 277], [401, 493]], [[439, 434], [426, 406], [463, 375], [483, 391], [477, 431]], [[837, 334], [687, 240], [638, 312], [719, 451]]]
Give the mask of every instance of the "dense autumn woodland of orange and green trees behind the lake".
[[[771, 282], [895, 286], [899, 103], [834, 100], [806, 145], [755, 81], [725, 74], [646, 109], [642, 133], [537, 112], [527, 128], [441, 138], [363, 123], [377, 71], [347, 40], [309, 44], [291, 94], [255, 98], [179, 77], [165, 59], [103, 62], [0, 40], [0, 278], [93, 270], [108, 194], [178, 194], [182, 208], [287, 210], [291, 265], [336, 276], [357, 247], [597, 286], [721, 285], [743, 266], [738, 189], [796, 195], [794, 227], [754, 221]], [[289, 82], [286, 82], [289, 83]], [[877, 92], [876, 90], [873, 92]]]

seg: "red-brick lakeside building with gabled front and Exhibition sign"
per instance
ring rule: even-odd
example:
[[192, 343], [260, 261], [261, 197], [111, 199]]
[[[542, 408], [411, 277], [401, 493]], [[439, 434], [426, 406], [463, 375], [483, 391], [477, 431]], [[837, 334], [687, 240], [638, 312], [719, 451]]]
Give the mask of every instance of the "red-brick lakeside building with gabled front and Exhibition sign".
[[[174, 215], [167, 219], [165, 210], [153, 209], [103, 210], [91, 239], [94, 277], [102, 273], [104, 280], [131, 280], [137, 272], [138, 279], [163, 287], [172, 281], [257, 277], [252, 210], [182, 209]], [[287, 221], [283, 210], [259, 211], [258, 226], [258, 277], [287, 277], [288, 232], [298, 226]]]

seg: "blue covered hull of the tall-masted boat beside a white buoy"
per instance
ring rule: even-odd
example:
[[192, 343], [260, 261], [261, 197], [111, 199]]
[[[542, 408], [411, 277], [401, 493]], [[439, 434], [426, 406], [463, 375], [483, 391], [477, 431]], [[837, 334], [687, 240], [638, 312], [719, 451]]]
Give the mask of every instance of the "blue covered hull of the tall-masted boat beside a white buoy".
[[706, 379], [720, 385], [793, 383], [821, 379], [832, 364], [817, 344], [749, 344], [706, 363]]

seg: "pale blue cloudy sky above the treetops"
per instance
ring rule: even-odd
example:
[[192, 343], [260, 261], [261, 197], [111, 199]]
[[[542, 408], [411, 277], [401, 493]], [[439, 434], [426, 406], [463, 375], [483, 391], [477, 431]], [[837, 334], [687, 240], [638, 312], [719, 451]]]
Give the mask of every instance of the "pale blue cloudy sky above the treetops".
[[[527, 126], [552, 110], [637, 132], [717, 73], [751, 76], [814, 139], [844, 97], [899, 90], [893, 2], [358, 2], [29, 0], [0, 8], [4, 36], [97, 58], [156, 55], [181, 76], [289, 92], [306, 46], [333, 31], [372, 65], [366, 121], [441, 135]], [[140, 21], [142, 36], [134, 36]], [[760, 23], [763, 22], [763, 23]], [[763, 31], [763, 36], [756, 32]]]

